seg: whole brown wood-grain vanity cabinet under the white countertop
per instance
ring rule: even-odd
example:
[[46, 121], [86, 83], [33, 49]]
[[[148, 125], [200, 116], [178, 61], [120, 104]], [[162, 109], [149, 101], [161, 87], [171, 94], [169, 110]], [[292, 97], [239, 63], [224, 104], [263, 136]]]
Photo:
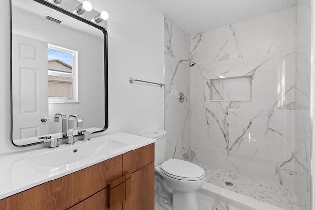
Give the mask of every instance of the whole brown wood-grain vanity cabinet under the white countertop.
[[108, 183], [131, 172], [131, 197], [111, 210], [154, 210], [154, 144], [0, 200], [0, 210], [109, 210]]

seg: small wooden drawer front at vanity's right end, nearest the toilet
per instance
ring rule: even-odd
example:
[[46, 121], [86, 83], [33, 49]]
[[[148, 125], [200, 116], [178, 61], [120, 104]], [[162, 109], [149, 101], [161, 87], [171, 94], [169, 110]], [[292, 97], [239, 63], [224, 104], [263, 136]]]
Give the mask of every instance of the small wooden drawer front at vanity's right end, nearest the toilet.
[[123, 174], [135, 172], [154, 161], [154, 143], [123, 154]]

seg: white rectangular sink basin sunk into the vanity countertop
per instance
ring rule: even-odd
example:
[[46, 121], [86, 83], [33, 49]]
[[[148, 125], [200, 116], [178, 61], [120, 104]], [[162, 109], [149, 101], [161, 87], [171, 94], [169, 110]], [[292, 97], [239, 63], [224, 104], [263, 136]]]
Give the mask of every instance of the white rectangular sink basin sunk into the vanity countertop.
[[96, 141], [76, 141], [74, 145], [61, 145], [54, 150], [48, 150], [39, 154], [27, 156], [24, 159], [31, 165], [37, 167], [60, 168], [69, 164], [80, 165], [80, 161], [93, 158], [97, 155], [106, 155], [127, 144], [113, 139], [102, 139]]

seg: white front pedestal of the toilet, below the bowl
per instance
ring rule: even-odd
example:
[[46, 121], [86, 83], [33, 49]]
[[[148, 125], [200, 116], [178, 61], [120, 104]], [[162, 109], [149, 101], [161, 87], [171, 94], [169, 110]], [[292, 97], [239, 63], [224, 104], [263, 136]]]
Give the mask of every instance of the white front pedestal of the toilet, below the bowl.
[[173, 191], [173, 210], [198, 210], [196, 192]]

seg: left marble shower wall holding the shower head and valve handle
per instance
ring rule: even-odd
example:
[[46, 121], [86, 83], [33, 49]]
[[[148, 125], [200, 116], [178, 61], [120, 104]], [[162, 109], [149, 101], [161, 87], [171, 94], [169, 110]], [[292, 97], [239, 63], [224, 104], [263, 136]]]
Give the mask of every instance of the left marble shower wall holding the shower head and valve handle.
[[[166, 158], [192, 160], [190, 150], [190, 36], [172, 20], [164, 16], [165, 59], [165, 130], [167, 131]], [[187, 97], [183, 103], [178, 95]]]

